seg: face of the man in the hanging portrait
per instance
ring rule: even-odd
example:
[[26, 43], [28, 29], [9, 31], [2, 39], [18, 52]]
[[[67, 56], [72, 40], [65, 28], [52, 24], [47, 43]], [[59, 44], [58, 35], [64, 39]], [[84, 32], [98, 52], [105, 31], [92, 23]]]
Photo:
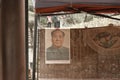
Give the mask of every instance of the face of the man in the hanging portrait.
[[57, 30], [52, 34], [52, 44], [54, 47], [60, 48], [64, 42], [64, 34]]

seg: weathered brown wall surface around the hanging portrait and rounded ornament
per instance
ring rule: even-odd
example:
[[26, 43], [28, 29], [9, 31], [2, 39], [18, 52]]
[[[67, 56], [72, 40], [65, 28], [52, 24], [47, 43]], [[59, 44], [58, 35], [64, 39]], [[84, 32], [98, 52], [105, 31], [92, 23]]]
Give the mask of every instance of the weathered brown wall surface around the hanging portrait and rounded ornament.
[[120, 54], [98, 54], [84, 43], [83, 32], [84, 29], [70, 30], [71, 64], [45, 64], [45, 30], [39, 30], [39, 78], [73, 80], [120, 78]]

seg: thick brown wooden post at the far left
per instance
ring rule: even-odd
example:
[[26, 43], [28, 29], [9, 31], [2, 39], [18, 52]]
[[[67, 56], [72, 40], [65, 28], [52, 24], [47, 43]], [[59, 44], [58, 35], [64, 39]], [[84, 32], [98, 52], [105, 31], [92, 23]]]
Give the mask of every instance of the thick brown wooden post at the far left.
[[2, 80], [25, 80], [25, 1], [2, 0]]

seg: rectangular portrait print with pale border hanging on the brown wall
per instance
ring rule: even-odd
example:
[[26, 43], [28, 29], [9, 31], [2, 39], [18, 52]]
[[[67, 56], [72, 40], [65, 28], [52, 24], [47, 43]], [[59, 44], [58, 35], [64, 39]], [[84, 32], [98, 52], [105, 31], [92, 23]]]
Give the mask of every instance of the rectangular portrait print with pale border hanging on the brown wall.
[[70, 29], [45, 29], [45, 63], [70, 64]]

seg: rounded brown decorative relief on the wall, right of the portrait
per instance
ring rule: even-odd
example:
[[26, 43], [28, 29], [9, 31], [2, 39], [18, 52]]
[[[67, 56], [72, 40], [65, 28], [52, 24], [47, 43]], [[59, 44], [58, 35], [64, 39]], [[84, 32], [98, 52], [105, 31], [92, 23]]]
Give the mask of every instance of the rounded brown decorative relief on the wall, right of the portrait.
[[86, 29], [86, 43], [100, 54], [120, 52], [120, 28], [101, 27]]

